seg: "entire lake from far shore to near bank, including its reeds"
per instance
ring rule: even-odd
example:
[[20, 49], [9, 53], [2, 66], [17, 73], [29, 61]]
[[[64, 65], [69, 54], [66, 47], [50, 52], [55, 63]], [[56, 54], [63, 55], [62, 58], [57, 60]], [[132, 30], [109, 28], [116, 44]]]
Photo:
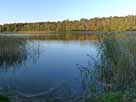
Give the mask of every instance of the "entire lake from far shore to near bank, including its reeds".
[[0, 94], [92, 97], [136, 80], [135, 34], [0, 34]]

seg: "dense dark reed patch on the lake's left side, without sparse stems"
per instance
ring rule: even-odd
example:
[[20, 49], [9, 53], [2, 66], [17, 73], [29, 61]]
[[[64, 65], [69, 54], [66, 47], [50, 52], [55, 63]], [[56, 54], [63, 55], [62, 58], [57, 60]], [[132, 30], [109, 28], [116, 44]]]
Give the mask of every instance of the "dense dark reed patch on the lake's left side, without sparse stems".
[[25, 41], [0, 37], [0, 66], [1, 68], [23, 64], [27, 59]]

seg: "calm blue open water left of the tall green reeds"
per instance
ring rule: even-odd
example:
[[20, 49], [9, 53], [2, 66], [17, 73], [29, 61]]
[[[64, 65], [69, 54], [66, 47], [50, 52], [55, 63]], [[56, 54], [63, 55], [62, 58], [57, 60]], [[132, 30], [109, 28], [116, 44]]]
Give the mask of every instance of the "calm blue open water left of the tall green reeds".
[[95, 39], [87, 34], [0, 35], [1, 93], [33, 95], [56, 88], [60, 96], [82, 94], [79, 66], [94, 62], [88, 54], [97, 59]]

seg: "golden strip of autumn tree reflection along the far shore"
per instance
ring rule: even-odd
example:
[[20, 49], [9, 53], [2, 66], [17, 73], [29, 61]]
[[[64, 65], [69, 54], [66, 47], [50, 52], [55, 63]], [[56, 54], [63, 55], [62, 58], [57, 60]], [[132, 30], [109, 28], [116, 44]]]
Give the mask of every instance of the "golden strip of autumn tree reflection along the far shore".
[[[10, 36], [10, 34], [6, 34], [3, 36]], [[29, 39], [29, 40], [57, 40], [57, 41], [85, 41], [85, 40], [97, 40], [98, 35], [96, 34], [46, 34], [46, 35], [18, 35], [12, 34], [12, 36], [16, 36], [21, 39]]]

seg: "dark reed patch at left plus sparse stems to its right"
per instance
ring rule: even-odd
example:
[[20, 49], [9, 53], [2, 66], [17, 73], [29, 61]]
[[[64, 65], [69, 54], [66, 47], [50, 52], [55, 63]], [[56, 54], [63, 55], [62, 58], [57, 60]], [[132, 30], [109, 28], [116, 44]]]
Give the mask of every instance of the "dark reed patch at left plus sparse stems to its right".
[[[27, 51], [27, 40], [15, 37], [0, 37], [0, 69], [8, 69], [20, 64], [25, 64], [28, 58], [38, 60], [38, 47], [29, 48]], [[30, 46], [29, 46], [30, 47]], [[34, 46], [31, 46], [34, 47]], [[34, 55], [33, 53], [36, 52]]]

